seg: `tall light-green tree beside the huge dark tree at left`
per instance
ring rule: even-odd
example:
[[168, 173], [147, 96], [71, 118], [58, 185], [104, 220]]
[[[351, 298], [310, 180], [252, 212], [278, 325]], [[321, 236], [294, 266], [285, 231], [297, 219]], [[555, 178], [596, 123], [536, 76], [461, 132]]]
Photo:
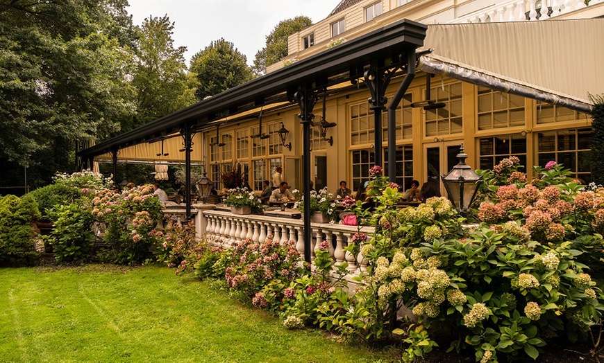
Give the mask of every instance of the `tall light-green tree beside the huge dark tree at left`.
[[137, 27], [137, 66], [133, 84], [137, 89], [137, 116], [133, 125], [143, 125], [195, 102], [194, 82], [187, 75], [184, 46], [174, 48], [174, 23], [169, 17], [149, 17]]

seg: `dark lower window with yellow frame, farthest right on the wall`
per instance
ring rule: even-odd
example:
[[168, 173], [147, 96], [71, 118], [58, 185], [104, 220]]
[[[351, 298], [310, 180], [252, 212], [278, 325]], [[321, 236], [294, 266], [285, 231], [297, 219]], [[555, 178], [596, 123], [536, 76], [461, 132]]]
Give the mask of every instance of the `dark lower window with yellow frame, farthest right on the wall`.
[[592, 129], [574, 129], [539, 132], [537, 138], [537, 154], [539, 166], [545, 166], [548, 161], [564, 164], [571, 170], [572, 177], [582, 179], [585, 184], [591, 182], [590, 163], [592, 150]]

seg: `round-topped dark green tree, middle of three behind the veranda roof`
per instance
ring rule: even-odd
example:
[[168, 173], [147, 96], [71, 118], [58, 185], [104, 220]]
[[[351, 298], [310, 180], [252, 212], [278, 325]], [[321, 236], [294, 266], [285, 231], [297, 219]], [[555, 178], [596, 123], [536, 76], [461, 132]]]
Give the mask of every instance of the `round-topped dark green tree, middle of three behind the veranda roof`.
[[253, 73], [246, 61], [233, 43], [223, 38], [211, 42], [191, 60], [191, 71], [199, 81], [195, 96], [203, 100], [251, 80]]

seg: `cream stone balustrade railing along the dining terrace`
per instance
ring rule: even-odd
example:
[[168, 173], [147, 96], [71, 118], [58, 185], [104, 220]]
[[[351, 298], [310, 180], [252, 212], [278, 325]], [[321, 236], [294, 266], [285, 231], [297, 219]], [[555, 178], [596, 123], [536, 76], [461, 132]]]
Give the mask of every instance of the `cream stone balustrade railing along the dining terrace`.
[[[265, 242], [267, 238], [287, 242], [293, 240], [296, 250], [304, 255], [304, 223], [302, 220], [292, 218], [268, 217], [266, 215], [237, 215], [227, 211], [205, 210], [198, 211], [198, 226], [205, 226], [205, 238], [212, 245], [230, 247], [233, 242], [251, 239], [254, 242]], [[203, 222], [201, 221], [203, 220]], [[360, 231], [370, 234], [372, 227], [361, 227]], [[203, 232], [203, 231], [202, 231]], [[367, 260], [353, 256], [349, 251], [344, 251], [352, 240], [358, 228], [343, 224], [311, 223], [311, 259], [314, 260], [314, 251], [319, 243], [327, 241], [329, 252], [335, 265], [348, 263], [346, 269], [350, 275], [360, 274], [367, 270]], [[198, 233], [199, 236], [199, 233]]]

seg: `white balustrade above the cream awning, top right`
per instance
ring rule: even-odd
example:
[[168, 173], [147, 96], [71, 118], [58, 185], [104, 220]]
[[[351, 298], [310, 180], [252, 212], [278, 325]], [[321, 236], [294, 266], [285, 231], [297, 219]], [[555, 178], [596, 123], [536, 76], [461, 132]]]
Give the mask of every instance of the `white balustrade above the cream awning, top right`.
[[546, 20], [586, 8], [587, 6], [595, 6], [603, 1], [591, 0], [587, 5], [583, 0], [497, 1], [493, 6], [480, 9], [463, 17], [458, 17], [455, 20], [449, 21], [449, 24]]

